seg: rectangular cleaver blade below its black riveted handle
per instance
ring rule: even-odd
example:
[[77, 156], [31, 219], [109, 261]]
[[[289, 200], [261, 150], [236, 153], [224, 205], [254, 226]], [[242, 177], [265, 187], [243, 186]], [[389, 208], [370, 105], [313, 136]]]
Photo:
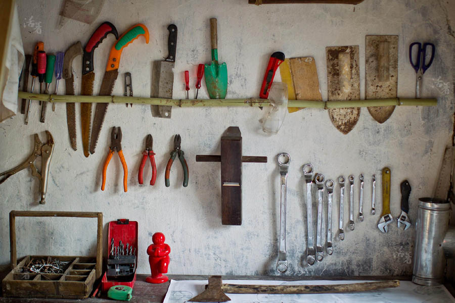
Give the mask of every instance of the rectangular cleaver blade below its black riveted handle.
[[[152, 97], [172, 99], [174, 86], [175, 62], [154, 61], [152, 68]], [[172, 106], [152, 105], [152, 116], [158, 118], [170, 118]]]

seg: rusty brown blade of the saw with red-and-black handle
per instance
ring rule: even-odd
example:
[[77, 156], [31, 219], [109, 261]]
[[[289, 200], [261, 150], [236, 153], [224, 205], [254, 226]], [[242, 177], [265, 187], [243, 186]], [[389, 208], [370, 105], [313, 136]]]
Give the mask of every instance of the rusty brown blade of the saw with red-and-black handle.
[[[84, 96], [93, 95], [93, 83], [95, 81], [95, 73], [89, 72], [82, 75], [82, 84], [80, 88], [80, 94]], [[88, 147], [90, 143], [90, 125], [92, 122], [92, 104], [81, 103], [80, 104], [80, 124], [81, 124], [81, 136], [82, 136], [82, 147], [84, 149], [84, 156], [88, 157]]]

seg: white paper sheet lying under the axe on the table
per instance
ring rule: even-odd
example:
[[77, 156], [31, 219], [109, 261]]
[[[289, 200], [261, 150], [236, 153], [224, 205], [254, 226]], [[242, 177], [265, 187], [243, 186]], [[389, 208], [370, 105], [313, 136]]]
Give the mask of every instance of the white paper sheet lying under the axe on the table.
[[[223, 280], [223, 283], [231, 284], [261, 284], [261, 285], [323, 285], [360, 283], [372, 281], [270, 281], [270, 280]], [[171, 280], [169, 289], [164, 297], [163, 303], [184, 303], [205, 289], [207, 280]], [[449, 303], [455, 302], [444, 286], [421, 286], [411, 281], [400, 281], [396, 288], [382, 289], [368, 292], [355, 293], [327, 293], [327, 294], [235, 294], [227, 293], [231, 303]]]

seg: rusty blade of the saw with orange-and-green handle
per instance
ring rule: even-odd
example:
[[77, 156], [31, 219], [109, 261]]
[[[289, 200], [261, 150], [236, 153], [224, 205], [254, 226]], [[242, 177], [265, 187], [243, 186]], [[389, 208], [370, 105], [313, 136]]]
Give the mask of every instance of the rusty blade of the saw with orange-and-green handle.
[[[112, 94], [117, 76], [118, 69], [108, 71], [104, 74], [103, 82], [101, 82], [100, 96], [108, 96]], [[92, 127], [92, 140], [90, 141], [90, 154], [94, 154], [95, 149], [97, 148], [98, 138], [100, 137], [101, 128], [103, 127], [104, 117], [106, 116], [108, 106], [109, 103], [97, 103], [96, 105]]]

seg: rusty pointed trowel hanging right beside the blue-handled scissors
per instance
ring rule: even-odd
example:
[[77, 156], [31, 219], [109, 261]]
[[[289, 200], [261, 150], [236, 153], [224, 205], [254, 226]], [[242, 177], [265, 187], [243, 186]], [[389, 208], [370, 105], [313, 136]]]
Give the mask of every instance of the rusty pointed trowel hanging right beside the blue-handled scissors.
[[[366, 37], [366, 99], [396, 98], [398, 36]], [[369, 107], [373, 119], [384, 123], [395, 106]]]

